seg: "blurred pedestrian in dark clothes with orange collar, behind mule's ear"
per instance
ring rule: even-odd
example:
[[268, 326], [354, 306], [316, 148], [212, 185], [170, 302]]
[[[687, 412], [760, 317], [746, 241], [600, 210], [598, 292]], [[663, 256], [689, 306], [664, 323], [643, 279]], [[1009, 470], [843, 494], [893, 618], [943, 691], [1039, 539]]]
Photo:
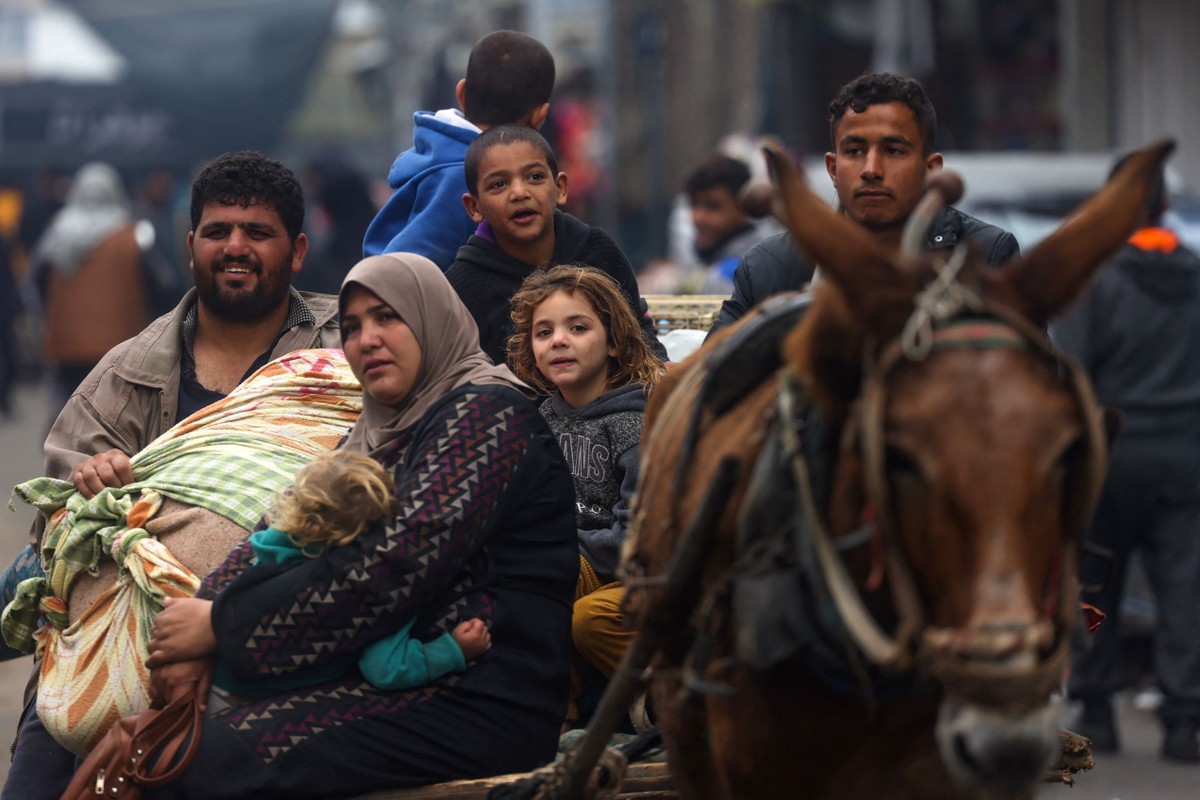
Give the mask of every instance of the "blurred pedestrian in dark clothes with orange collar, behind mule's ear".
[[[1120, 162], [1118, 162], [1120, 166]], [[1115, 169], [1115, 168], [1114, 168]], [[1068, 690], [1082, 700], [1076, 729], [1097, 752], [1120, 739], [1112, 694], [1121, 686], [1121, 596], [1141, 548], [1158, 601], [1154, 675], [1163, 692], [1162, 754], [1200, 763], [1200, 257], [1162, 227], [1159, 174], [1144, 217], [1088, 294], [1051, 336], [1087, 369], [1097, 398], [1121, 413], [1108, 480], [1087, 540], [1115, 560], [1085, 560], [1086, 594], [1108, 619], [1078, 654]]]

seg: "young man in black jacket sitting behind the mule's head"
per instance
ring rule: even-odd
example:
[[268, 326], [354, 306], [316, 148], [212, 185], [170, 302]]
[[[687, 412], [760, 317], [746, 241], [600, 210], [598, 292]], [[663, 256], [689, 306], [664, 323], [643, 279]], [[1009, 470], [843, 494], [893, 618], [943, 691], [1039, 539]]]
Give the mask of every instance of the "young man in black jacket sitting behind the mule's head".
[[[925, 90], [912, 78], [887, 73], [860, 76], [841, 88], [829, 104], [826, 169], [838, 191], [842, 213], [880, 245], [898, 249], [905, 223], [925, 191], [925, 179], [942, 168], [934, 151], [937, 115]], [[1013, 234], [946, 207], [925, 239], [925, 249], [953, 248], [971, 239], [992, 265], [1016, 258]], [[752, 247], [733, 273], [733, 295], [709, 333], [740, 319], [750, 308], [781, 291], [803, 289], [814, 265], [784, 233]]]

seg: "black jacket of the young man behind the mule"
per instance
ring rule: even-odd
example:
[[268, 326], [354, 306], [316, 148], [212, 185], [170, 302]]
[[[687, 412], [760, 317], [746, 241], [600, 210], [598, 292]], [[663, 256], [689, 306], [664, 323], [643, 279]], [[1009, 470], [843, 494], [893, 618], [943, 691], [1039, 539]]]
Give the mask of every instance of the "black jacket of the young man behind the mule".
[[[925, 249], [954, 247], [970, 239], [983, 247], [984, 260], [998, 266], [1021, 254], [1013, 234], [947, 206], [929, 227]], [[733, 295], [721, 303], [721, 311], [708, 331], [715, 331], [740, 319], [756, 305], [780, 291], [798, 291], [812, 279], [809, 264], [792, 243], [788, 233], [768, 236], [751, 247], [733, 273]]]

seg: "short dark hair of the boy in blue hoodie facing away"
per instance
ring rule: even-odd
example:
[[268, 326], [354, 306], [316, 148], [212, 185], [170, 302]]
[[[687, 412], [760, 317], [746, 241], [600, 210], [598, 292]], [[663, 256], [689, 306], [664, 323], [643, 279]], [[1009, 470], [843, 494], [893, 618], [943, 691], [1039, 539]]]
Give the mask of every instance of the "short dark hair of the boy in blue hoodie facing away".
[[467, 60], [462, 113], [475, 125], [521, 121], [554, 90], [554, 58], [533, 36], [498, 30], [475, 42]]

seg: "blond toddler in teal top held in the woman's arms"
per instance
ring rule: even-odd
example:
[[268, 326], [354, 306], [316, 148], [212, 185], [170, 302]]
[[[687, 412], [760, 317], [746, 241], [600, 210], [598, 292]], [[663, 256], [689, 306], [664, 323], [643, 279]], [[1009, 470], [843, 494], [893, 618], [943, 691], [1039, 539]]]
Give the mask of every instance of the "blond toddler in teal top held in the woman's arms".
[[[271, 527], [254, 531], [250, 543], [258, 564], [294, 565], [319, 555], [326, 547], [354, 540], [390, 512], [395, 504], [391, 476], [367, 456], [331, 451], [305, 464], [295, 482], [275, 503]], [[481, 619], [460, 622], [452, 632], [421, 642], [410, 636], [415, 618], [401, 630], [366, 648], [358, 667], [373, 686], [384, 690], [424, 686], [451, 672], [462, 672], [467, 661], [492, 646]], [[217, 662], [209, 711], [236, 702], [270, 697], [286, 688], [314, 686], [349, 669], [353, 660], [302, 670], [286, 679], [241, 681]]]

